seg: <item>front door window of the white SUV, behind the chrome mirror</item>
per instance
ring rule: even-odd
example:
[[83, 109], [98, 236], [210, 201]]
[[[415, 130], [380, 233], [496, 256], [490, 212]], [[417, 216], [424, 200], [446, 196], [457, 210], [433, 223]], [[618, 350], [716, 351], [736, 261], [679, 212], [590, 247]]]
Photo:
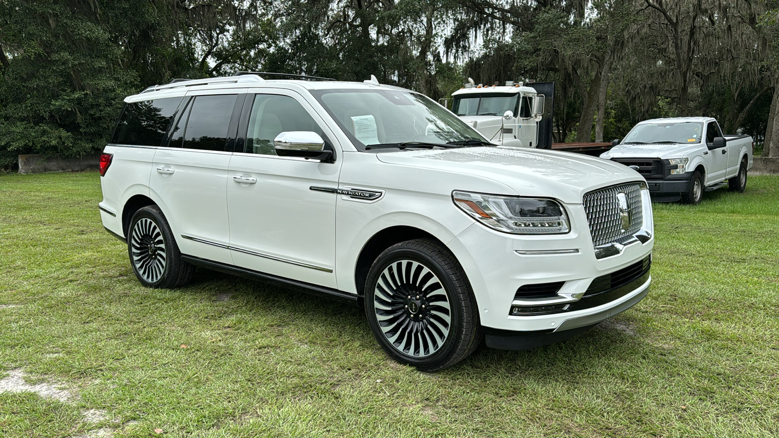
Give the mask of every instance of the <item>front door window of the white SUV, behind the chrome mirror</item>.
[[324, 138], [319, 125], [292, 97], [257, 94], [249, 116], [246, 153], [276, 155], [273, 140], [287, 131], [312, 131]]

